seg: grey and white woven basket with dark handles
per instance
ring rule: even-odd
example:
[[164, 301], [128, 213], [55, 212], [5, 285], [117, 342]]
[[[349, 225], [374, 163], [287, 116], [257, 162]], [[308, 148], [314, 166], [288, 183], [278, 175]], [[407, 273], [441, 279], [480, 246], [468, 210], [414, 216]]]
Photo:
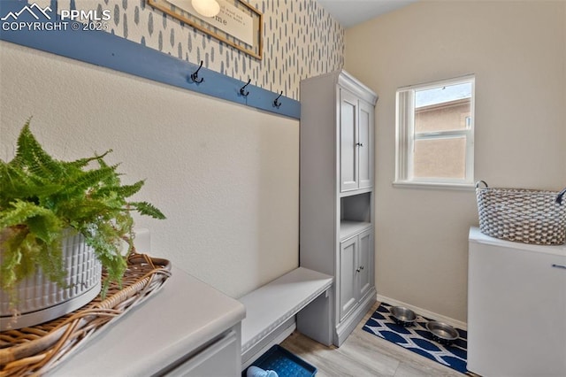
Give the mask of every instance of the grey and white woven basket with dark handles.
[[[486, 187], [479, 187], [484, 183]], [[561, 192], [490, 188], [476, 183], [479, 229], [503, 240], [537, 245], [566, 242], [566, 188]]]

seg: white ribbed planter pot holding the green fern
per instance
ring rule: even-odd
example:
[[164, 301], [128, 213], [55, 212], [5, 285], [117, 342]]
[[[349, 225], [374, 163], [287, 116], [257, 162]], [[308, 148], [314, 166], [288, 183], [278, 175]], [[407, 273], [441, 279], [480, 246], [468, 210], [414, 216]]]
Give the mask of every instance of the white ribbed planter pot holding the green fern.
[[56, 319], [88, 304], [101, 289], [102, 265], [95, 251], [87, 246], [82, 235], [63, 240], [64, 266], [68, 271], [66, 288], [59, 287], [37, 269], [34, 276], [21, 281], [16, 288], [20, 313], [13, 318], [10, 297], [0, 289], [0, 331], [31, 327]]

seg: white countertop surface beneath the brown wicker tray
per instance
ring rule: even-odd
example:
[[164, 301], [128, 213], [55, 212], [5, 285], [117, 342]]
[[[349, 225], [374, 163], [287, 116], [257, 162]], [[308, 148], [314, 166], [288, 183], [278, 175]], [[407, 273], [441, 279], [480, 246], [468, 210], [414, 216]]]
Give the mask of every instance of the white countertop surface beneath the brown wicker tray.
[[173, 267], [162, 289], [103, 327], [50, 374], [151, 375], [244, 317], [239, 301]]

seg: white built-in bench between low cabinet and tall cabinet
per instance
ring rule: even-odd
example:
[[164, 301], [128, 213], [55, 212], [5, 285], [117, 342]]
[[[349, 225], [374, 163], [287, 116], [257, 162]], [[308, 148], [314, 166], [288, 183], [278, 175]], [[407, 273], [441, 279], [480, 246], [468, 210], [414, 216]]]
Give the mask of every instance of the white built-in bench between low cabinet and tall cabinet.
[[242, 296], [246, 318], [241, 322], [242, 369], [273, 344], [283, 341], [295, 328], [329, 345], [333, 277], [299, 267]]

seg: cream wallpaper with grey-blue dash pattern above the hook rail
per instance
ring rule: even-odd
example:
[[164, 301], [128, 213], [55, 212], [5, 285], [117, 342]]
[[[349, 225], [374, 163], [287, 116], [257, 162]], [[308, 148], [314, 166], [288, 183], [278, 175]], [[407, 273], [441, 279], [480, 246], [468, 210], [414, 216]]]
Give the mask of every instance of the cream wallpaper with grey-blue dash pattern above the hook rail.
[[[246, 0], [244, 0], [246, 1]], [[37, 1], [40, 3], [40, 1]], [[234, 49], [145, 0], [59, 0], [61, 9], [111, 11], [112, 34], [299, 100], [302, 79], [340, 69], [344, 29], [316, 0], [249, 0], [263, 13], [263, 59]]]

